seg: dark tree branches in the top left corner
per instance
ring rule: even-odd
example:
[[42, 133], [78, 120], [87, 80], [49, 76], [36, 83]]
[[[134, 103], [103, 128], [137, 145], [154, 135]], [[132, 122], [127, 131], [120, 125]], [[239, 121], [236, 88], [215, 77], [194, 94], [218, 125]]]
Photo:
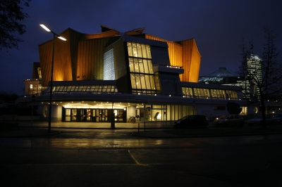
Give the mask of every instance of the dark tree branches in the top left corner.
[[[18, 49], [18, 42], [23, 41], [15, 35], [15, 32], [22, 35], [26, 26], [20, 22], [29, 18], [23, 13], [23, 6], [30, 6], [31, 0], [1, 0], [0, 1], [0, 51], [5, 49]], [[7, 51], [8, 52], [8, 51]]]

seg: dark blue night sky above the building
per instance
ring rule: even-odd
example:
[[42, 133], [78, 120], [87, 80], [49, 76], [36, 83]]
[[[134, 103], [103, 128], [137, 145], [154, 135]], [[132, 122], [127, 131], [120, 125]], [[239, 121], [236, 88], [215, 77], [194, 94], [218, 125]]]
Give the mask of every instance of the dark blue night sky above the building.
[[19, 50], [0, 51], [0, 91], [23, 94], [23, 80], [32, 78], [32, 63], [39, 62], [38, 45], [53, 37], [39, 23], [58, 34], [68, 27], [98, 33], [102, 24], [120, 32], [145, 27], [145, 33], [171, 41], [195, 38], [201, 76], [219, 67], [237, 72], [240, 39], [254, 39], [260, 53], [264, 25], [276, 30], [281, 51], [281, 10], [281, 0], [32, 0], [23, 9], [30, 18], [23, 22], [27, 32]]

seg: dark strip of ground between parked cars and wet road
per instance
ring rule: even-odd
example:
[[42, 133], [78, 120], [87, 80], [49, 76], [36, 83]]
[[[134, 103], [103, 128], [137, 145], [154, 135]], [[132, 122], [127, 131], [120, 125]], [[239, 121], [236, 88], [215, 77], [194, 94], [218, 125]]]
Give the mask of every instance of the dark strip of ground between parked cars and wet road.
[[173, 129], [166, 131], [168, 134], [177, 136], [211, 136], [211, 135], [234, 135], [234, 134], [269, 134], [282, 133], [282, 127], [224, 127], [224, 128], [207, 128], [207, 129]]

